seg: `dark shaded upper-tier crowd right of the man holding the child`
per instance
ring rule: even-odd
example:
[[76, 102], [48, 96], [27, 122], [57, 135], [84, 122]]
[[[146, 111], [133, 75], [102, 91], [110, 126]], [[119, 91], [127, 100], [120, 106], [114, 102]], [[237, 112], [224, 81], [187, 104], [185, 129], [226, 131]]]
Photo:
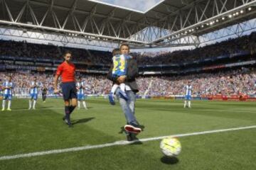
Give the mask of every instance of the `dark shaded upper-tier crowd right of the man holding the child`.
[[194, 50], [178, 50], [174, 52], [159, 52], [156, 55], [150, 53], [134, 53], [139, 64], [176, 64], [182, 62], [193, 62], [214, 58], [220, 55], [230, 55], [236, 52], [250, 52], [255, 54], [256, 33], [244, 35], [240, 38], [228, 39], [216, 42], [213, 45], [197, 47]]

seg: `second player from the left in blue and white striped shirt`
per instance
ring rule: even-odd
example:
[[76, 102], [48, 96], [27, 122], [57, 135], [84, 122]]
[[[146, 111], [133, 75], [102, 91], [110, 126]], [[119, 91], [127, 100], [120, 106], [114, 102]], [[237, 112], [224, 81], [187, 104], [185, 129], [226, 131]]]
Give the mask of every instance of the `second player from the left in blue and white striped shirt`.
[[33, 101], [33, 109], [36, 109], [36, 100], [38, 99], [38, 88], [40, 87], [40, 84], [36, 81], [36, 77], [33, 77], [33, 81], [30, 83], [30, 96], [29, 99], [29, 108], [30, 110], [32, 108], [32, 101]]

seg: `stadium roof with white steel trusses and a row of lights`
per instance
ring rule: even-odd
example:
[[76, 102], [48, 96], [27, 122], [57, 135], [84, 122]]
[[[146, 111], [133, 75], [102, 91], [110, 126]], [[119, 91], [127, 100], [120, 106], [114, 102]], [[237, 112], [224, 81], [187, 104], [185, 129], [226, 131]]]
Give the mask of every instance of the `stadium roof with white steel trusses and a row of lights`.
[[191, 37], [183, 43], [193, 45], [200, 35], [255, 18], [255, 4], [255, 0], [164, 0], [142, 12], [95, 0], [1, 0], [0, 26], [140, 47], [168, 46]]

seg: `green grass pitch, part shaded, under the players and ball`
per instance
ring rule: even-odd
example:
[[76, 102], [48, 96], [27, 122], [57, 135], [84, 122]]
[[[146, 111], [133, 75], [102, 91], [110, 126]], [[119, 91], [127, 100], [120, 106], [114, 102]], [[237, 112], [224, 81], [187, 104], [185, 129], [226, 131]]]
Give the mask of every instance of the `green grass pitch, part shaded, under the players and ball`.
[[[136, 115], [144, 131], [137, 137], [160, 137], [206, 130], [256, 125], [256, 103], [138, 100]], [[73, 128], [63, 123], [63, 101], [38, 100], [28, 111], [28, 100], [16, 99], [13, 111], [0, 112], [0, 157], [53, 149], [102, 145], [126, 140], [121, 108], [107, 100], [87, 100], [88, 111], [76, 109]], [[178, 138], [177, 159], [163, 157], [160, 140], [87, 149], [78, 152], [0, 160], [0, 169], [256, 169], [256, 129]]]

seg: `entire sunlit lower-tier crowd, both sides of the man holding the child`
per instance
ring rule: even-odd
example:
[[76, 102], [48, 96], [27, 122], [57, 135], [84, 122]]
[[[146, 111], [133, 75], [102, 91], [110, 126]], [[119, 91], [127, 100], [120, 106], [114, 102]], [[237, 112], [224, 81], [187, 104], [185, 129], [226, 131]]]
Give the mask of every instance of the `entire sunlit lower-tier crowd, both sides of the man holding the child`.
[[[6, 75], [11, 73], [0, 72], [0, 77], [4, 81]], [[38, 82], [45, 84], [48, 91], [53, 92], [53, 74], [31, 74], [26, 72], [12, 73], [14, 82], [14, 91], [20, 88], [29, 88], [29, 83], [33, 77], [38, 78]], [[86, 94], [108, 94], [110, 92], [112, 82], [105, 76], [99, 75], [78, 75], [82, 77], [86, 83]], [[235, 71], [226, 71], [218, 73], [191, 74], [176, 77], [139, 77], [137, 83], [139, 85], [139, 95], [149, 96], [171, 96], [183, 95], [183, 87], [191, 82], [193, 86], [193, 95], [207, 94], [250, 94], [254, 95], [256, 72], [255, 70], [242, 69]]]

